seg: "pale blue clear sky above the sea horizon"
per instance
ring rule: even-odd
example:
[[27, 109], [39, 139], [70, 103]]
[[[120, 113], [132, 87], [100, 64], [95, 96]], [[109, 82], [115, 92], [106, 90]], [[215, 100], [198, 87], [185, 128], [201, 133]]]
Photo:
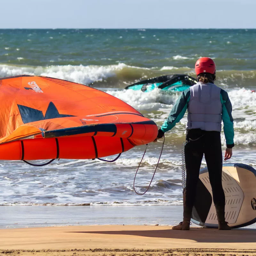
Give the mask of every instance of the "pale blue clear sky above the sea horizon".
[[0, 28], [256, 28], [256, 0], [0, 2]]

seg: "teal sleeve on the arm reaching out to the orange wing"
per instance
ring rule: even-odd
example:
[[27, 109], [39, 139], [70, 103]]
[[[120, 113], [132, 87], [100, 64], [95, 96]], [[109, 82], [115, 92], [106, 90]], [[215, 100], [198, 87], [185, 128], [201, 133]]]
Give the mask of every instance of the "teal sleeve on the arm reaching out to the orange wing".
[[170, 112], [170, 115], [164, 121], [164, 124], [161, 127], [161, 130], [163, 132], [170, 131], [175, 126], [175, 124], [180, 122], [180, 119], [185, 115], [186, 110], [188, 108], [189, 99], [190, 89], [187, 89], [180, 94], [180, 97], [174, 104]]

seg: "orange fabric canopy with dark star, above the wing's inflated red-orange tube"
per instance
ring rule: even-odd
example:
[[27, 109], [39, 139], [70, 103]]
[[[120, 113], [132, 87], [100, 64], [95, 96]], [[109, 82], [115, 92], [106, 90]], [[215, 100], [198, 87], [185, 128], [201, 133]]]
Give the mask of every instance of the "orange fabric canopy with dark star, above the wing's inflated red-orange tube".
[[[156, 125], [105, 92], [44, 76], [2, 78], [0, 102], [0, 144], [24, 138], [82, 134], [115, 136], [118, 133], [127, 138], [134, 133], [131, 124]], [[121, 128], [118, 124], [127, 125]]]

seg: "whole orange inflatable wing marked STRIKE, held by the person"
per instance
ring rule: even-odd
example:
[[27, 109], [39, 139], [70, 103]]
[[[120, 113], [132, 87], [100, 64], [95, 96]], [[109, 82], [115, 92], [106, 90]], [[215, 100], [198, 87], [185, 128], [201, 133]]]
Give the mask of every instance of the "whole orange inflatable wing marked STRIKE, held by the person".
[[44, 76], [0, 79], [0, 159], [94, 159], [152, 142], [156, 124], [92, 87]]

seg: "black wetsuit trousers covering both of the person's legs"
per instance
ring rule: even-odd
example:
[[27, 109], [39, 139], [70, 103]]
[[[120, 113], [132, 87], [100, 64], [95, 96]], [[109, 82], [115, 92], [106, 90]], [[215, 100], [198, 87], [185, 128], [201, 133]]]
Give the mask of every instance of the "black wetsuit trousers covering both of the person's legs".
[[[202, 131], [200, 129], [191, 129], [187, 131], [186, 139], [190, 141], [185, 146], [185, 164], [186, 164], [186, 188], [183, 192], [183, 220], [189, 221], [192, 215], [192, 209], [196, 197], [196, 186], [199, 178], [200, 166], [203, 155], [205, 156], [209, 179], [212, 186], [213, 202], [215, 204], [218, 217], [224, 216], [225, 194], [222, 188], [222, 150], [220, 141], [220, 132]], [[223, 219], [223, 217], [221, 217]]]

